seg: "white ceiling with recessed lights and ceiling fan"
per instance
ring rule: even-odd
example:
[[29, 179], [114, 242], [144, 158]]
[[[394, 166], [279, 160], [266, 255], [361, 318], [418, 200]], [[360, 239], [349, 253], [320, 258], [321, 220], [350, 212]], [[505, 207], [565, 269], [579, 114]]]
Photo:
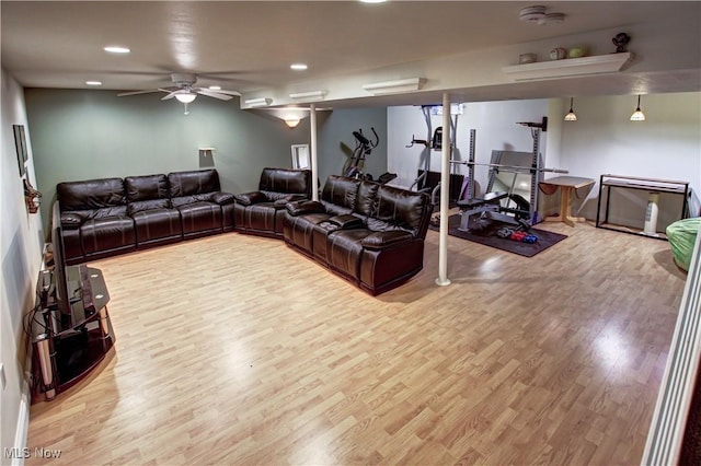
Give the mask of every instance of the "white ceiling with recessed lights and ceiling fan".
[[[536, 26], [518, 11], [543, 4], [565, 14], [563, 24]], [[663, 20], [697, 16], [701, 2], [668, 1], [5, 1], [0, 2], [2, 66], [25, 88], [148, 90], [170, 85], [171, 72], [195, 72], [198, 85], [254, 94], [304, 82], [318, 85], [347, 75], [474, 50], [590, 33]], [[633, 38], [634, 39], [634, 38]], [[131, 49], [127, 56], [106, 45]], [[611, 48], [613, 46], [611, 45]], [[700, 44], [690, 53], [701, 54]], [[697, 51], [700, 49], [700, 51]], [[673, 51], [670, 51], [673, 53]], [[307, 71], [292, 71], [292, 62]], [[645, 75], [648, 92], [700, 91], [699, 69]], [[566, 82], [484, 85], [471, 100], [635, 93], [640, 75], [616, 74]], [[578, 86], [578, 88], [577, 88]], [[575, 88], [577, 88], [575, 90]], [[314, 88], [320, 89], [320, 88]], [[466, 90], [455, 89], [456, 93]], [[440, 93], [374, 101], [425, 103]]]

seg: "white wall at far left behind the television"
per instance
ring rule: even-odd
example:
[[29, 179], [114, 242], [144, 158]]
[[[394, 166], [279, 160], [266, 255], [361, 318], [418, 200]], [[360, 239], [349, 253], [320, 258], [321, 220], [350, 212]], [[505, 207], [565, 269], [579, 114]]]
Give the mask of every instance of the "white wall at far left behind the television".
[[[22, 88], [4, 69], [2, 86], [2, 161], [0, 163], [0, 361], [7, 386], [0, 397], [2, 464], [9, 464], [4, 448], [24, 446], [28, 422], [28, 386], [24, 380], [26, 347], [22, 316], [34, 305], [34, 288], [42, 255], [39, 213], [30, 214], [18, 168], [12, 125], [25, 125], [30, 143], [27, 175], [33, 186], [34, 162]], [[27, 368], [28, 369], [28, 368]]]

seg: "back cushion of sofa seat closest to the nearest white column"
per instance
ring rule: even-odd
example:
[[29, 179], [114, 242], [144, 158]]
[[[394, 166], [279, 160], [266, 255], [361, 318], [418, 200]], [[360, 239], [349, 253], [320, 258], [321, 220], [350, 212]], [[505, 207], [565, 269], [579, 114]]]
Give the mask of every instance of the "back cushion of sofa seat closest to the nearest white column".
[[368, 229], [404, 230], [423, 238], [428, 229], [430, 213], [428, 195], [380, 185], [377, 190], [375, 214], [368, 219]]

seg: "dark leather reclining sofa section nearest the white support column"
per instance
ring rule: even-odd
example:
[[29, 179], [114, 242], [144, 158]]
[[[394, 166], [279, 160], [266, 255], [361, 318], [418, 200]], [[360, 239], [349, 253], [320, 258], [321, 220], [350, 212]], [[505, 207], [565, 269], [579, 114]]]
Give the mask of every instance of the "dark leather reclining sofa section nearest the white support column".
[[287, 205], [285, 242], [376, 295], [424, 266], [428, 195], [330, 176], [319, 201]]

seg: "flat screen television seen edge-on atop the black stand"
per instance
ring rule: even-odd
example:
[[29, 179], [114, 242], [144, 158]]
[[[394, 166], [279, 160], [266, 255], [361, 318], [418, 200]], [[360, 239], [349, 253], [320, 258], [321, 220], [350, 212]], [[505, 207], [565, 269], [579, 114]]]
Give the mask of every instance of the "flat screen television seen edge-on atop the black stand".
[[[58, 206], [54, 206], [51, 218], [51, 248], [54, 253], [54, 298], [60, 312], [60, 322], [64, 328], [72, 327], [76, 322], [73, 306], [71, 304], [80, 301], [81, 283], [80, 279], [72, 280], [69, 268], [66, 265], [66, 251], [64, 248], [64, 235], [61, 233], [61, 219]], [[76, 276], [76, 273], [72, 273]], [[80, 273], [77, 275], [80, 277]]]

